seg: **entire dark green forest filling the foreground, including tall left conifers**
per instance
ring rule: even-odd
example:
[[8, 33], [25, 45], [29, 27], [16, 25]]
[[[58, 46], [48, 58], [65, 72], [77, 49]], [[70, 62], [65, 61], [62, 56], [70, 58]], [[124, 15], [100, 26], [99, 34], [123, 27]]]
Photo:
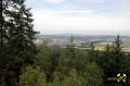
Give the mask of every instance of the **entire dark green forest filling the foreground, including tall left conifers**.
[[0, 1], [0, 86], [129, 86], [130, 53], [115, 37], [104, 51], [35, 45], [32, 13], [25, 0]]

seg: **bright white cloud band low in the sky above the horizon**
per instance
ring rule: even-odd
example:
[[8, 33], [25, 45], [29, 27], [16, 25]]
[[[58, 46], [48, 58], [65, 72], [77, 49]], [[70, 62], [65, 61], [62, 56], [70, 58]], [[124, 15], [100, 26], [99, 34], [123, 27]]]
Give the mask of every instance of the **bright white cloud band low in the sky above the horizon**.
[[38, 11], [34, 13], [35, 27], [37, 30], [41, 32], [129, 30], [130, 28], [130, 17], [126, 17], [123, 15], [117, 16], [87, 13], [86, 11], [81, 11], [81, 14], [82, 12], [86, 13], [83, 16], [64, 16], [62, 15], [62, 13], [64, 13], [63, 11]]

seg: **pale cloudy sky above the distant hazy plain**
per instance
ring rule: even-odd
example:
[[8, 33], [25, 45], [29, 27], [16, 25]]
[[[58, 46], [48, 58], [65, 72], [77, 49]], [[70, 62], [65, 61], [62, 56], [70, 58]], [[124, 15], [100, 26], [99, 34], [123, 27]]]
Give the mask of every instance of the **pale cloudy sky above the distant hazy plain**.
[[130, 0], [27, 0], [26, 5], [41, 34], [130, 34]]

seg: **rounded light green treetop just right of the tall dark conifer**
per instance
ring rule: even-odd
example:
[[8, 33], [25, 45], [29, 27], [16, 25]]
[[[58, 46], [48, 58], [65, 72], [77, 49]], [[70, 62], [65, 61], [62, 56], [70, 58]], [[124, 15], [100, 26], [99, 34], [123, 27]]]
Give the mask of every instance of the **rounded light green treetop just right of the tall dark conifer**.
[[47, 78], [52, 75], [52, 51], [48, 44], [41, 44], [39, 46], [39, 52], [36, 56], [35, 64], [40, 66], [44, 71]]

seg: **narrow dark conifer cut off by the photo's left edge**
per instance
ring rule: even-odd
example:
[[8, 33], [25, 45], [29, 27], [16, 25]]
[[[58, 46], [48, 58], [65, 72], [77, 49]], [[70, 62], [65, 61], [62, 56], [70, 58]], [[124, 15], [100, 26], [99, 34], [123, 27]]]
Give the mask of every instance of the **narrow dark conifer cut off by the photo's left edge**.
[[13, 0], [0, 0], [0, 81], [2, 81], [1, 86], [5, 86], [4, 76], [6, 74], [5, 72], [5, 65], [9, 61], [8, 59], [8, 27], [9, 27], [9, 21], [6, 19], [6, 11], [9, 7], [11, 7]]

